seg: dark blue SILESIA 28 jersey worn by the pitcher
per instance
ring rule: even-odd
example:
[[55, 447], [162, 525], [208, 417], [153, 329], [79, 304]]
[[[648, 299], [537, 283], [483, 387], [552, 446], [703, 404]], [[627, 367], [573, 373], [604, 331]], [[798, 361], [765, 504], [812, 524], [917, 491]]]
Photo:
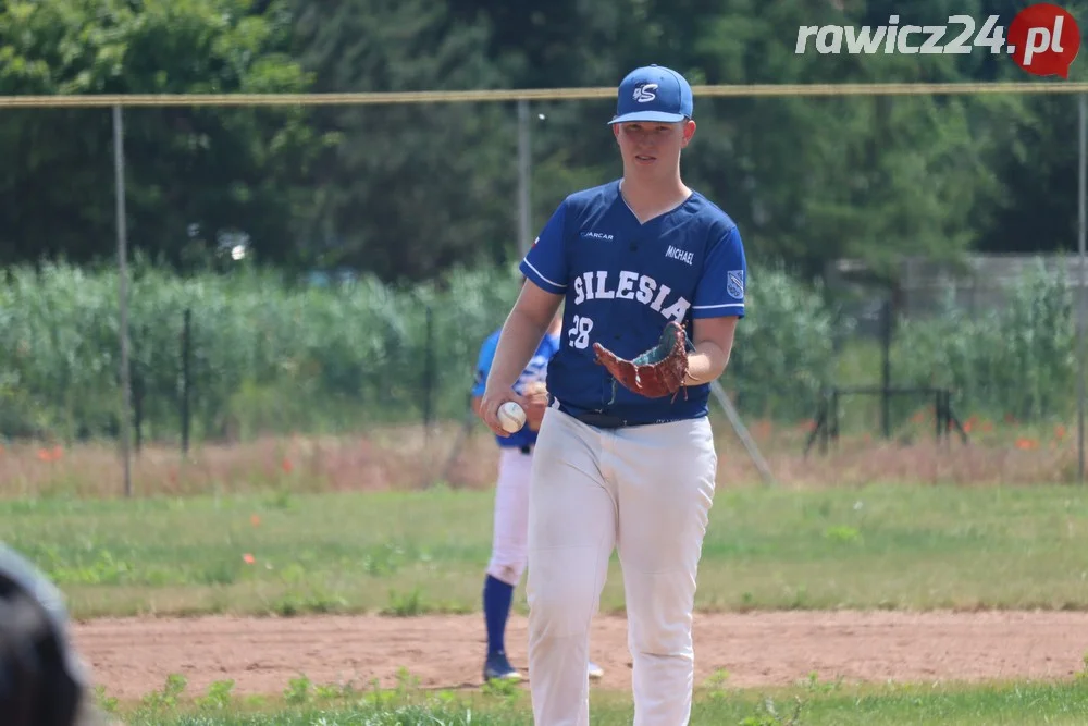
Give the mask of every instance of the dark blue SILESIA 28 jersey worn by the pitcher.
[[636, 423], [697, 418], [709, 384], [647, 398], [615, 383], [594, 360], [601, 343], [623, 358], [657, 344], [675, 320], [744, 317], [747, 266], [737, 224], [693, 192], [678, 207], [640, 223], [620, 182], [568, 196], [521, 261], [543, 290], [565, 296], [564, 337], [548, 365], [548, 391], [571, 413], [597, 411]]

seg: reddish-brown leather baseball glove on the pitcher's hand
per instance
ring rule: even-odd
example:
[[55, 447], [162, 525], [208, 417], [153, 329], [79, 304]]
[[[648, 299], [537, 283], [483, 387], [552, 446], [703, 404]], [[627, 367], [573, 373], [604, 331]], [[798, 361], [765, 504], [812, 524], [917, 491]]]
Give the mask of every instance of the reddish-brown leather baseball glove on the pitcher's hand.
[[[688, 352], [694, 346], [683, 328], [669, 321], [662, 331], [657, 345], [628, 360], [601, 345], [593, 344], [596, 361], [608, 369], [623, 387], [647, 398], [676, 394], [688, 376]], [[687, 391], [684, 392], [687, 395]]]

